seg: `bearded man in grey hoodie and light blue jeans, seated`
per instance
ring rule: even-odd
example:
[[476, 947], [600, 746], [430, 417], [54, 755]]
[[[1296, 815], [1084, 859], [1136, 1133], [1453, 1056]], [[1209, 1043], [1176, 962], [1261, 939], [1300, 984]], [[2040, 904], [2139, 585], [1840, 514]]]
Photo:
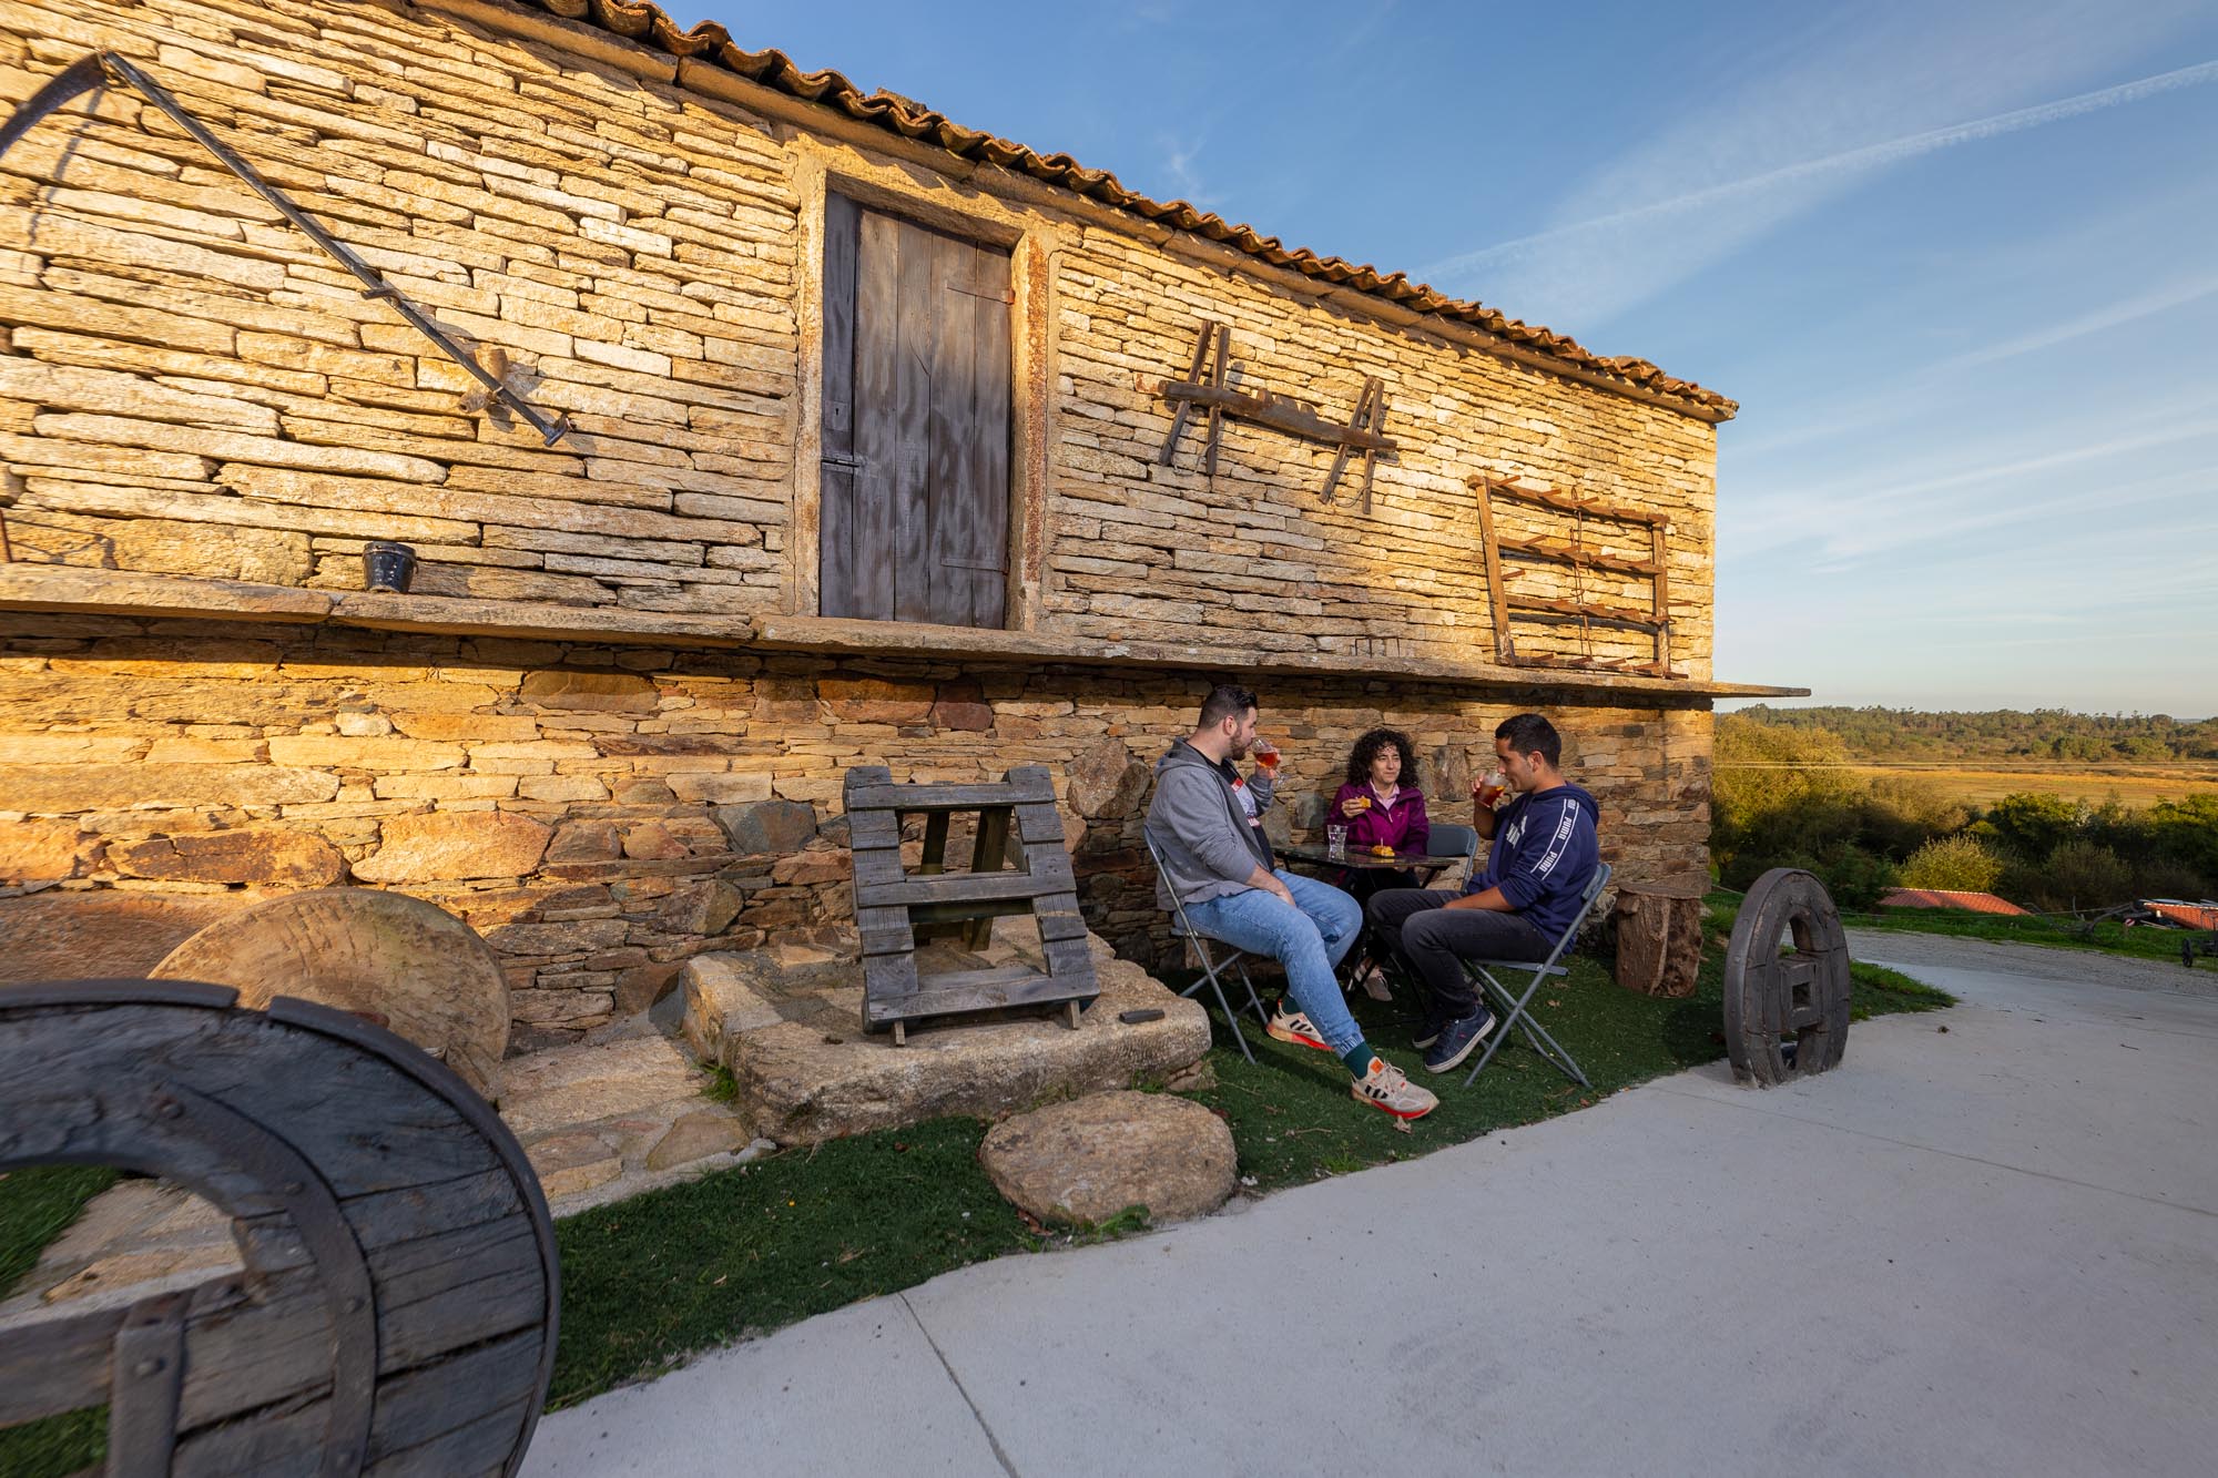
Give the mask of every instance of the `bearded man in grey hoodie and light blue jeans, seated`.
[[1200, 932], [1284, 965], [1293, 1001], [1278, 1003], [1271, 1036], [1337, 1056], [1357, 1103], [1422, 1118], [1439, 1099], [1371, 1050], [1335, 979], [1362, 930], [1362, 905], [1329, 883], [1273, 865], [1262, 834], [1273, 777], [1262, 766], [1244, 777], [1233, 768], [1253, 743], [1255, 695], [1218, 686], [1202, 701], [1193, 732], [1156, 761], [1156, 797], [1147, 806], [1147, 837], [1162, 857], [1156, 901], [1171, 908], [1176, 894]]

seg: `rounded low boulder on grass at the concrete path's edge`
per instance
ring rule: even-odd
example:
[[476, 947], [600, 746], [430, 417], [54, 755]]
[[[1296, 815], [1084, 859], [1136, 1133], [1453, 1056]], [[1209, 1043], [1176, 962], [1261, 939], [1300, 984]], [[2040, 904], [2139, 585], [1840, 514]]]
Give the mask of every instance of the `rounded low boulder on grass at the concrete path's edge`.
[[1144, 1205], [1156, 1223], [1207, 1216], [1233, 1194], [1233, 1132], [1189, 1099], [1109, 1092], [987, 1130], [994, 1187], [1038, 1221], [1105, 1223]]

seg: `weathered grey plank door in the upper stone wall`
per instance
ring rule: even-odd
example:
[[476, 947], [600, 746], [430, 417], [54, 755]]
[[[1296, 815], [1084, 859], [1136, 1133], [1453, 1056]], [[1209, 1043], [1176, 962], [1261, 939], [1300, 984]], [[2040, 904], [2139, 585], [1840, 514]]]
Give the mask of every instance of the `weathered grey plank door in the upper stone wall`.
[[1003, 626], [1009, 253], [830, 195], [818, 610]]

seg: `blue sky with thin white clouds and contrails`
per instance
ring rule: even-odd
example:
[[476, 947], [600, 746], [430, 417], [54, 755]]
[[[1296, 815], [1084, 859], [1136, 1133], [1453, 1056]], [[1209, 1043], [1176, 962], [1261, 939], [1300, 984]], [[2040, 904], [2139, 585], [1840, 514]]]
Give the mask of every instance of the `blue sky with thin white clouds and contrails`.
[[665, 7], [1732, 395], [1719, 677], [2218, 712], [2214, 0]]

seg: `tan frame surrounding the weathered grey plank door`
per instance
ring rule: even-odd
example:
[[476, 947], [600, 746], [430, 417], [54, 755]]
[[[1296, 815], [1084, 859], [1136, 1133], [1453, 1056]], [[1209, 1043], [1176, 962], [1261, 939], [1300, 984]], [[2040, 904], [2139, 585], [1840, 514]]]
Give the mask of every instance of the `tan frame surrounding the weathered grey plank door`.
[[794, 317], [801, 393], [794, 404], [792, 548], [787, 615], [823, 610], [823, 384], [825, 198], [1009, 253], [1009, 573], [1003, 630], [1036, 630], [1047, 564], [1047, 446], [1054, 386], [1054, 257], [1069, 222], [1020, 211], [960, 182], [892, 166], [858, 151], [796, 138], [801, 240]]

